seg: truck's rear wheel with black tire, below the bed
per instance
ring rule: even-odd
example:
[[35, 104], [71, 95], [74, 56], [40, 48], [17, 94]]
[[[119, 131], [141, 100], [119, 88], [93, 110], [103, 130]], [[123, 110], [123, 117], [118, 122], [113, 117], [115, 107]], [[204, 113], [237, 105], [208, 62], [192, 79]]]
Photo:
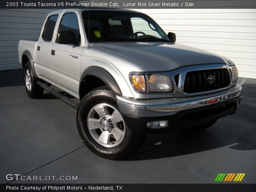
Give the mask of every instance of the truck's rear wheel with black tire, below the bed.
[[23, 78], [28, 96], [32, 99], [41, 98], [44, 93], [44, 89], [36, 84], [36, 81], [38, 81], [38, 79], [35, 78], [29, 62], [26, 62], [24, 66]]

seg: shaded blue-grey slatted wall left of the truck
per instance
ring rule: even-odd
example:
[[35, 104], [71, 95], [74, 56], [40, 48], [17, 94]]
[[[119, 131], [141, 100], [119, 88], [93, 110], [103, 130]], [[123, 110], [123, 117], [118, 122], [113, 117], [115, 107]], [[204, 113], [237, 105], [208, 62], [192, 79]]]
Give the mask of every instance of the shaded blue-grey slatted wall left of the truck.
[[38, 40], [42, 25], [52, 9], [0, 10], [0, 70], [20, 68], [20, 39]]

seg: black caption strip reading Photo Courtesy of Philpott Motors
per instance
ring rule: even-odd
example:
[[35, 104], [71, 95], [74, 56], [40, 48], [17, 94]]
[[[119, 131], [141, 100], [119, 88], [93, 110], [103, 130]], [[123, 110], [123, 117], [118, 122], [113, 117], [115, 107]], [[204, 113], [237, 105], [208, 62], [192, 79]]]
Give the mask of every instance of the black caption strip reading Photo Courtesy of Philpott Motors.
[[255, 192], [256, 184], [6, 184], [9, 192]]

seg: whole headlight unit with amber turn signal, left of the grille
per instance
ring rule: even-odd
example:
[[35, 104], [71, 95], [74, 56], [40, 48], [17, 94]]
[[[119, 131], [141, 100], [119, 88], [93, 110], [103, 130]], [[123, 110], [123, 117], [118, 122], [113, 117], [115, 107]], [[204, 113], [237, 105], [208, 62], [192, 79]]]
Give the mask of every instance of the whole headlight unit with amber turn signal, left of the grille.
[[130, 80], [138, 92], [171, 92], [172, 83], [168, 76], [160, 74], [131, 74]]

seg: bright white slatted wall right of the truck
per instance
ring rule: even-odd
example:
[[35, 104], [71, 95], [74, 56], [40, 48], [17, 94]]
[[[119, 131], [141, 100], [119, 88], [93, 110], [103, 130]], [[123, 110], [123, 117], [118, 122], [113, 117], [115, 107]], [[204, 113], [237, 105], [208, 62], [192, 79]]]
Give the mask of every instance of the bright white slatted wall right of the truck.
[[256, 9], [134, 9], [174, 32], [177, 43], [230, 58], [240, 77], [256, 78]]

